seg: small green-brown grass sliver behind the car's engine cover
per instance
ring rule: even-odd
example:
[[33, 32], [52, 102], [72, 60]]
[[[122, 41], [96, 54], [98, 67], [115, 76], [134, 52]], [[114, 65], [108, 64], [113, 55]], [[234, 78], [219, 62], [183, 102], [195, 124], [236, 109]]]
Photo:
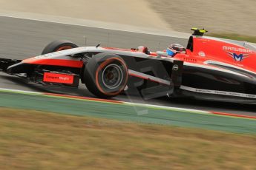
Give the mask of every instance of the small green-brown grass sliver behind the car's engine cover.
[[207, 35], [218, 37], [218, 38], [227, 38], [227, 39], [233, 39], [238, 41], [248, 41], [248, 42], [256, 43], [256, 36], [238, 35], [238, 34], [232, 34], [232, 33], [209, 33]]

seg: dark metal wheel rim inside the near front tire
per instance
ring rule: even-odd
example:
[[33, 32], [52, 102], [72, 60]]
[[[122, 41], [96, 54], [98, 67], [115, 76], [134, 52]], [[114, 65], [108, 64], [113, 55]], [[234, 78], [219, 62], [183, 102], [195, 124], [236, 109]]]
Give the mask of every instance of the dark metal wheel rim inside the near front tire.
[[117, 64], [109, 64], [102, 72], [102, 83], [108, 89], [116, 89], [122, 84], [122, 68]]

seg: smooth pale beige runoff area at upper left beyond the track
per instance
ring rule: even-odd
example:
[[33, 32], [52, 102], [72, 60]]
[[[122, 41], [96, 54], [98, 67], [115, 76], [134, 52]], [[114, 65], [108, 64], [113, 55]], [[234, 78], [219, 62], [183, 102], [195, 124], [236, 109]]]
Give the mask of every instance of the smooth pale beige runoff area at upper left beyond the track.
[[8, 11], [171, 30], [146, 0], [0, 0], [0, 15]]

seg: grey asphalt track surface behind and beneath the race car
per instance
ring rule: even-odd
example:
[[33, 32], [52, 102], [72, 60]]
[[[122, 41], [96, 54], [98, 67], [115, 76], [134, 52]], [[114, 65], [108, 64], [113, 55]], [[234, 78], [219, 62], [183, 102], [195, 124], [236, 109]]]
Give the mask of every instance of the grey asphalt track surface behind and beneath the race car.
[[[186, 45], [186, 41], [174, 37], [106, 30], [70, 24], [57, 24], [45, 21], [32, 21], [4, 16], [0, 16], [0, 23], [0, 58], [24, 59], [36, 56], [42, 52], [42, 49], [46, 44], [58, 39], [68, 39], [80, 46], [102, 44], [102, 46], [109, 47], [131, 48], [145, 45], [152, 51], [163, 50], [171, 43]], [[4, 73], [0, 73], [0, 88], [94, 97], [87, 89], [85, 89], [85, 85], [83, 84], [79, 85], [79, 89], [40, 86], [31, 83], [27, 84], [27, 82], [22, 81], [20, 78], [5, 75]], [[239, 103], [185, 99], [172, 100], [169, 98], [157, 98], [143, 101], [142, 98], [127, 95], [119, 95], [114, 99], [187, 109], [230, 112], [240, 115], [256, 115], [256, 105]]]

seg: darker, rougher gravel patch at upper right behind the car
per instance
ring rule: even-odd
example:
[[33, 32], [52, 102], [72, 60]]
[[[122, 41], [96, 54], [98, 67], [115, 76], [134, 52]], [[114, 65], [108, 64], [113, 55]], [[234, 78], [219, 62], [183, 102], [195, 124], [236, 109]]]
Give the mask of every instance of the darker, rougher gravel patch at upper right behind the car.
[[147, 0], [176, 31], [206, 27], [211, 33], [256, 35], [255, 0]]

